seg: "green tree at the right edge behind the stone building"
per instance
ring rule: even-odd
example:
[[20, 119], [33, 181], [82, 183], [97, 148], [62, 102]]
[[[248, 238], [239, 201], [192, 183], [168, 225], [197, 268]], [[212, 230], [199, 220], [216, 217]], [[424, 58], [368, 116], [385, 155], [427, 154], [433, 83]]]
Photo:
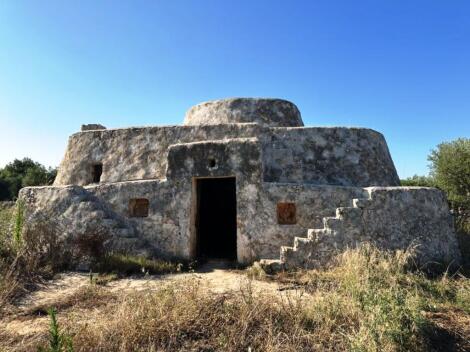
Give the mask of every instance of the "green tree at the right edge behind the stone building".
[[470, 139], [441, 143], [428, 157], [431, 177], [447, 193], [457, 227], [470, 223]]

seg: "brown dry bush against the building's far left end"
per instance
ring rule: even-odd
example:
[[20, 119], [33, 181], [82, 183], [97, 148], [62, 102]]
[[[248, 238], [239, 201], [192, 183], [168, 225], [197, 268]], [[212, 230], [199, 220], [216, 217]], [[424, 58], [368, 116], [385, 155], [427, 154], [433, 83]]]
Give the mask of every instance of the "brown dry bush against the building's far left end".
[[104, 256], [104, 231], [90, 227], [72, 237], [64, 232], [47, 217], [26, 218], [21, 202], [0, 213], [0, 310], [55, 273]]

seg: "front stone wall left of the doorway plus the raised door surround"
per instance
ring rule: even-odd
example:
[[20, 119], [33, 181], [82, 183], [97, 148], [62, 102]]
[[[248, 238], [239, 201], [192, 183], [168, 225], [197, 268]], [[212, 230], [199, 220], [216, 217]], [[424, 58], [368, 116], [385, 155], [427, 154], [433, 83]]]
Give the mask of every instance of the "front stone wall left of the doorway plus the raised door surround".
[[[217, 160], [215, 167], [207, 162], [208, 157]], [[251, 238], [256, 234], [244, 232], [244, 223], [251, 221], [260, 197], [262, 167], [257, 139], [178, 144], [170, 148], [168, 160], [166, 180], [87, 187], [28, 187], [21, 191], [20, 198], [26, 201], [31, 212], [56, 219], [65, 224], [71, 234], [80, 232], [84, 224], [93, 220], [106, 224], [115, 235], [113, 248], [191, 259], [195, 255], [196, 235], [192, 228], [193, 178], [235, 176], [238, 258], [249, 262], [253, 251], [259, 251], [251, 248]], [[148, 217], [129, 217], [129, 202], [135, 198], [149, 200]]]

